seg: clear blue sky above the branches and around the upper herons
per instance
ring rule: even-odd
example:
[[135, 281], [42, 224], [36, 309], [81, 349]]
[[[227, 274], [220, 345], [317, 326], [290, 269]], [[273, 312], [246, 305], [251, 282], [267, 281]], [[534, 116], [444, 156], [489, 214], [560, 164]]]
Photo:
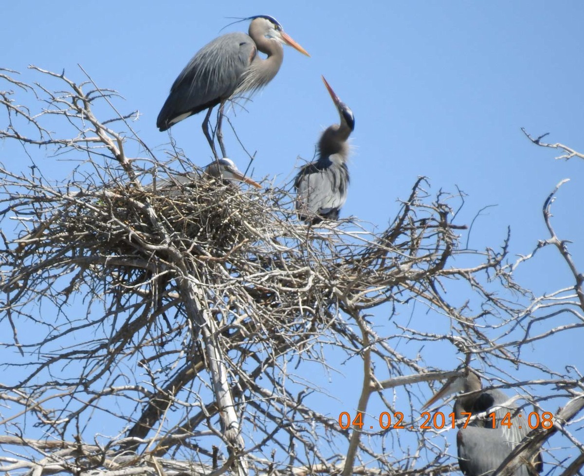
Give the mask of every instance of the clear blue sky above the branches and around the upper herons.
[[[570, 178], [554, 204], [554, 224], [560, 238], [573, 242], [573, 258], [584, 270], [584, 163], [555, 161], [558, 151], [536, 147], [520, 130], [549, 132], [545, 141], [584, 151], [582, 2], [5, 2], [0, 66], [20, 71], [25, 82], [41, 79], [29, 64], [65, 70], [81, 82], [81, 64], [96, 84], [126, 98], [121, 112], [140, 111], [134, 129], [164, 157], [168, 133], [155, 123], [172, 82], [208, 41], [247, 32], [248, 22], [220, 31], [232, 21], [227, 17], [258, 14], [277, 18], [311, 58], [285, 48], [276, 78], [247, 111], [230, 114], [248, 150], [257, 151], [253, 178], [288, 182], [297, 157], [312, 159], [321, 131], [338, 121], [322, 74], [356, 120], [343, 217], [383, 230], [397, 200], [424, 175], [434, 193], [460, 187], [468, 194], [459, 224], [496, 205], [475, 221], [469, 246], [496, 248], [509, 225], [513, 259], [548, 238], [542, 205]], [[202, 120], [194, 116], [172, 128], [178, 146], [199, 165], [211, 159]], [[225, 134], [230, 157], [245, 169], [227, 127]], [[29, 165], [6, 144], [0, 161], [16, 171]], [[46, 161], [37, 165], [54, 179], [71, 166]], [[541, 255], [519, 273], [522, 284], [542, 293], [571, 283], [555, 251]], [[556, 358], [560, 367], [578, 363], [582, 339], [582, 332], [562, 335], [561, 359], [552, 349], [539, 350], [548, 365]], [[439, 360], [432, 364], [440, 367]]]

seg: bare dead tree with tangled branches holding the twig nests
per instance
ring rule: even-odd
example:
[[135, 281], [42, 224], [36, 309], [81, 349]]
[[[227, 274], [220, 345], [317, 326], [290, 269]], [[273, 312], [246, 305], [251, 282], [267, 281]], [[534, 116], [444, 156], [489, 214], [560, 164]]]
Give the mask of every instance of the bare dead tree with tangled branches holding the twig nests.
[[[459, 194], [432, 196], [419, 178], [386, 230], [358, 220], [307, 227], [286, 190], [217, 183], [176, 150], [155, 157], [133, 133], [133, 113], [99, 119], [97, 110], [116, 111], [115, 92], [34, 70], [58, 85], [0, 74], [0, 137], [75, 169], [55, 183], [37, 159], [30, 172], [0, 169], [0, 471], [455, 471], [446, 430], [420, 425], [420, 384], [448, 375], [427, 364], [436, 349], [472, 358], [493, 385], [529, 388], [529, 405], [581, 401], [576, 367], [558, 373], [522, 355], [583, 326], [579, 273], [573, 294], [523, 289], [513, 271], [531, 255], [507, 262], [508, 232], [498, 249], [461, 246]], [[23, 106], [30, 98], [41, 107]], [[173, 180], [185, 171], [192, 180]], [[557, 313], [573, 322], [560, 328]], [[532, 332], [535, 322], [548, 329]], [[343, 428], [315, 396], [329, 391], [333, 362], [357, 360], [360, 394]], [[489, 371], [507, 364], [545, 378]], [[411, 431], [354, 420], [380, 404]], [[581, 448], [568, 425], [555, 422], [555, 433]]]

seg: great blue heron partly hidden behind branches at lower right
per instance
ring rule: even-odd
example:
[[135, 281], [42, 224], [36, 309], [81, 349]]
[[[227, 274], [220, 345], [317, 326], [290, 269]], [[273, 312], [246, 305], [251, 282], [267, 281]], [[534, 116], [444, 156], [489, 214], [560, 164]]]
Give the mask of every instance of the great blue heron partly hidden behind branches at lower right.
[[[505, 393], [496, 388], [481, 390], [481, 378], [467, 367], [463, 376], [450, 378], [423, 406], [426, 408], [440, 398], [463, 392], [454, 403], [457, 420], [466, 420], [468, 415], [463, 415], [462, 412], [470, 412], [472, 415], [486, 412], [485, 418], [469, 422], [456, 435], [458, 465], [466, 476], [492, 474], [530, 430], [526, 419], [518, 413], [515, 404], [509, 403], [510, 398]], [[469, 394], [470, 392], [474, 393]], [[493, 409], [496, 406], [499, 408]], [[495, 413], [495, 428], [492, 416], [489, 416], [492, 412]], [[522, 465], [515, 472], [515, 476], [529, 476], [533, 470], [543, 470], [540, 453], [531, 464], [531, 471], [526, 465]]]

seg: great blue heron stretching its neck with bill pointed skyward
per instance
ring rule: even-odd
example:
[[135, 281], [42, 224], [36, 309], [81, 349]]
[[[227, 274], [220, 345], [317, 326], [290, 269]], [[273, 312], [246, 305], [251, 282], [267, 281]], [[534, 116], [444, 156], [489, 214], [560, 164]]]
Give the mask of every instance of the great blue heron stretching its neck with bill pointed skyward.
[[352, 110], [339, 99], [324, 77], [322, 81], [339, 111], [340, 124], [326, 128], [318, 141], [318, 160], [304, 165], [294, 181], [298, 217], [313, 224], [324, 218], [338, 219], [340, 208], [347, 200], [347, 139], [355, 127]]

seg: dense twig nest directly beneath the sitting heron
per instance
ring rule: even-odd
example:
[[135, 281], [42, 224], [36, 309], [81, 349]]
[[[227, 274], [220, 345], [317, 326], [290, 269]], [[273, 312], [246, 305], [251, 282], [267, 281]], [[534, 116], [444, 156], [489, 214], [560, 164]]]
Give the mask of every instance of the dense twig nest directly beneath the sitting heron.
[[[91, 234], [81, 241], [104, 255], [152, 259], [164, 256], [162, 248], [172, 241], [184, 252], [221, 258], [234, 246], [258, 239], [262, 231], [252, 230], [247, 223], [262, 228], [265, 204], [261, 198], [193, 173], [188, 183], [165, 182], [159, 189], [114, 187], [95, 203], [98, 209], [79, 209], [62, 225], [64, 232], [75, 236], [91, 223]], [[155, 246], [162, 248], [152, 256], [148, 249]]]

